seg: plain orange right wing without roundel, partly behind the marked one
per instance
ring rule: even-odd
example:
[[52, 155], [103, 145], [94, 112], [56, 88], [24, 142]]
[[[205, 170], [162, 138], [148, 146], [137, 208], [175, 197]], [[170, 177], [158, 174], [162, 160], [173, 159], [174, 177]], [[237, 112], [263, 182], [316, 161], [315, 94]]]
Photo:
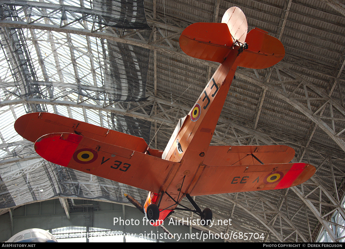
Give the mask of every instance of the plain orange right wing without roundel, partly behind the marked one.
[[295, 150], [285, 145], [264, 146], [210, 146], [205, 155], [204, 164], [209, 166], [253, 165], [287, 163], [295, 156]]

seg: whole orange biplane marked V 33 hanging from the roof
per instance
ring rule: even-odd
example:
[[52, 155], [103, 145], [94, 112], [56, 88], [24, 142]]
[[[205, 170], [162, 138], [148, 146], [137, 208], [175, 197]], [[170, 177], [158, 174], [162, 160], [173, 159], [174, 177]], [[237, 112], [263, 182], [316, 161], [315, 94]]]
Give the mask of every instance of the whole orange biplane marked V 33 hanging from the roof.
[[[212, 211], [201, 211], [191, 196], [283, 189], [315, 173], [308, 163], [289, 163], [295, 151], [287, 146], [209, 146], [237, 66], [268, 68], [285, 55], [268, 32], [247, 30], [244, 13], [232, 7], [221, 23], [194, 23], [183, 31], [186, 54], [220, 66], [164, 151], [142, 138], [46, 112], [28, 113], [14, 128], [50, 162], [149, 191], [144, 207], [126, 197], [152, 225], [180, 209], [196, 213], [207, 226]], [[184, 197], [195, 210], [180, 204]]]

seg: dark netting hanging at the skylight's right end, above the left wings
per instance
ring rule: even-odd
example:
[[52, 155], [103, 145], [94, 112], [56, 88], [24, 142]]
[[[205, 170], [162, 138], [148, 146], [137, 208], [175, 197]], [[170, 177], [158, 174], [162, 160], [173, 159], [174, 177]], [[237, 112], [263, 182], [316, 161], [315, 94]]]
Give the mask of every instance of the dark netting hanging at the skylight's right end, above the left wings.
[[104, 88], [90, 88], [89, 84], [80, 82], [77, 92], [97, 100], [145, 100], [150, 50], [110, 40], [107, 47]]

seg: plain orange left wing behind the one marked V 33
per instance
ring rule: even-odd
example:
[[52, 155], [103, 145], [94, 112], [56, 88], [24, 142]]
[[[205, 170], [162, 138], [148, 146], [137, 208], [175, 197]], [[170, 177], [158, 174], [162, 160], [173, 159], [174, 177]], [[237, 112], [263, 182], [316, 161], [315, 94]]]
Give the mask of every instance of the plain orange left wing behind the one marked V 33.
[[[36, 142], [38, 138], [46, 134], [66, 132], [139, 152], [145, 152], [148, 149], [143, 138], [48, 112], [25, 114], [16, 120], [14, 129], [20, 136], [31, 142]], [[151, 155], [161, 157], [162, 151], [159, 153], [158, 150], [149, 150]]]

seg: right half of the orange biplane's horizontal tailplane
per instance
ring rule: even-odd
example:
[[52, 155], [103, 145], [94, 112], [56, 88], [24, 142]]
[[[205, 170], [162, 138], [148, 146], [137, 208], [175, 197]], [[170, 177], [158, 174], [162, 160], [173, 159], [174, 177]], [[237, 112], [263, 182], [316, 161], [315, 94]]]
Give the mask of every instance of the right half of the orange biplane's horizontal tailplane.
[[246, 37], [248, 49], [243, 51], [238, 66], [263, 69], [272, 67], [285, 56], [285, 49], [277, 38], [258, 28], [249, 31]]

